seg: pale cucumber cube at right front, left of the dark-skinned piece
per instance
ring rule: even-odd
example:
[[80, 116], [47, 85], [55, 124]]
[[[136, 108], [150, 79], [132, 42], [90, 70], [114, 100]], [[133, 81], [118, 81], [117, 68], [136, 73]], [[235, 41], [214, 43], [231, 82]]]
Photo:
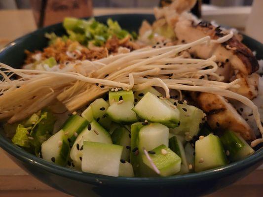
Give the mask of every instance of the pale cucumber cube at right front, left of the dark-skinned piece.
[[225, 151], [218, 136], [209, 134], [195, 142], [196, 172], [220, 167], [227, 164]]

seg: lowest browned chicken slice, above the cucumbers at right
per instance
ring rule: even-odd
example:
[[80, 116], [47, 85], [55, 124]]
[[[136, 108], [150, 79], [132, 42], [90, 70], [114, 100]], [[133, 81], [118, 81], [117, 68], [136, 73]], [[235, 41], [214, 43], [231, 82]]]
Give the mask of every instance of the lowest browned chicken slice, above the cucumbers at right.
[[240, 133], [245, 140], [256, 138], [247, 122], [224, 97], [198, 92], [193, 93], [192, 98], [207, 114], [207, 122], [214, 131], [229, 129]]

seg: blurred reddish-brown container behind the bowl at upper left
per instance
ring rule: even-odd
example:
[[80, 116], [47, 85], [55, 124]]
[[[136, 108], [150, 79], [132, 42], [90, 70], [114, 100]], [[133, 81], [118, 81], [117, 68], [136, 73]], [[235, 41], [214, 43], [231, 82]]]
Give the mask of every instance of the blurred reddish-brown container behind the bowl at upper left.
[[63, 21], [66, 16], [92, 16], [92, 0], [31, 0], [38, 28]]

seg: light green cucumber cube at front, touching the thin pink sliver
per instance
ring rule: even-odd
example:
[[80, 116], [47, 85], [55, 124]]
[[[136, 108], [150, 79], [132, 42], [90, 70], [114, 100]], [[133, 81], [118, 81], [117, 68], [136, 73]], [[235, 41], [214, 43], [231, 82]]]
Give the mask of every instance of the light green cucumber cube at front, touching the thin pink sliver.
[[[149, 156], [153, 164], [160, 171], [160, 176], [170, 176], [180, 171], [182, 162], [181, 158], [167, 146], [160, 145], [150, 152], [154, 153], [149, 154]], [[165, 154], [163, 154], [164, 152]], [[146, 155], [143, 155], [143, 162], [153, 169]]]

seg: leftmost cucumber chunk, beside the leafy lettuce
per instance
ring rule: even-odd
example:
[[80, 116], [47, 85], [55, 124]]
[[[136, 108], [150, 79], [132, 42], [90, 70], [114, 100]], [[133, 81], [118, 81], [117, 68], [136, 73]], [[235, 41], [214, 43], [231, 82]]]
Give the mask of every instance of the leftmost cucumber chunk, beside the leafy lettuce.
[[44, 160], [65, 166], [69, 157], [70, 147], [63, 130], [52, 135], [41, 145], [41, 153]]

